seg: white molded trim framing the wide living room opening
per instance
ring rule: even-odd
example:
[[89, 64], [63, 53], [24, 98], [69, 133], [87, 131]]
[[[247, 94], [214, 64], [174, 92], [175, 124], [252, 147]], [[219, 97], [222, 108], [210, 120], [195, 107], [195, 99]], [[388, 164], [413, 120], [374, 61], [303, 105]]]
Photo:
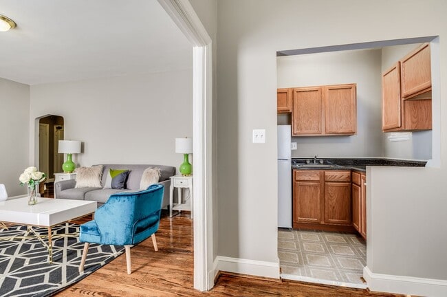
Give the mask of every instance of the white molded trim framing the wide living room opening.
[[212, 45], [188, 0], [157, 0], [193, 46], [194, 288], [214, 286], [212, 221]]

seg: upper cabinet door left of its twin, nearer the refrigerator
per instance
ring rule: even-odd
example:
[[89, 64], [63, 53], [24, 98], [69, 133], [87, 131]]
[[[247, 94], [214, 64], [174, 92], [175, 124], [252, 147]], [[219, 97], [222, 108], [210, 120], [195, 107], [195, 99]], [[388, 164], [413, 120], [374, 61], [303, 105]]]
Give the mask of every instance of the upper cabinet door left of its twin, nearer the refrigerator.
[[320, 135], [323, 96], [320, 87], [293, 89], [292, 135]]

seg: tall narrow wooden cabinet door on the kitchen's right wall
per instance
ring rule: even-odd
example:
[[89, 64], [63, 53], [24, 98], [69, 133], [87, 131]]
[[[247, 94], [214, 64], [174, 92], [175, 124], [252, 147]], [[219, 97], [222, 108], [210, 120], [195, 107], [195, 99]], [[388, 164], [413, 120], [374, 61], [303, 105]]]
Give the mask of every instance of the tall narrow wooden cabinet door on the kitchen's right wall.
[[402, 126], [400, 98], [400, 63], [382, 74], [382, 129]]

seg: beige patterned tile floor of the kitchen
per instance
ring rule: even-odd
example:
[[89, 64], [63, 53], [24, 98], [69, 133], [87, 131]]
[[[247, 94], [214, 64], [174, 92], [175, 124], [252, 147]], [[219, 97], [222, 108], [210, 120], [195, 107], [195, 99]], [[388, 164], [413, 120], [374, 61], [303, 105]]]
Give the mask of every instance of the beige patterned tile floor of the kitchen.
[[280, 228], [278, 254], [283, 274], [363, 284], [367, 245], [360, 235]]

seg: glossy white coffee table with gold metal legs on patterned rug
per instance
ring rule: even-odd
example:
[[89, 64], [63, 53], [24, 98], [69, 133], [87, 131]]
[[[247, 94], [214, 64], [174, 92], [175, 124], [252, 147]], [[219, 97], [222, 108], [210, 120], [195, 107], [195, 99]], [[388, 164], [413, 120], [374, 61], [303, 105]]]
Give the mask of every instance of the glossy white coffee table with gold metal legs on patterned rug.
[[[72, 199], [37, 198], [37, 204], [28, 206], [28, 198], [18, 198], [0, 202], [0, 221], [28, 225], [28, 232], [34, 233], [48, 250], [48, 261], [53, 261], [52, 227], [85, 217], [96, 210], [96, 201]], [[32, 227], [48, 228], [48, 243], [43, 241]], [[3, 237], [8, 240], [10, 237]]]

